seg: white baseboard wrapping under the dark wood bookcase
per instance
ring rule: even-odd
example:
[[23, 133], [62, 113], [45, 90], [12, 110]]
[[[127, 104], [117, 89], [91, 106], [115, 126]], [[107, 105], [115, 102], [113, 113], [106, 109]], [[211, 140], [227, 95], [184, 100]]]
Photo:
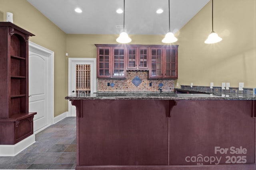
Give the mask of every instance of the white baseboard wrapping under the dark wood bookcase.
[[35, 135], [33, 134], [15, 145], [0, 145], [0, 156], [16, 156], [35, 142]]

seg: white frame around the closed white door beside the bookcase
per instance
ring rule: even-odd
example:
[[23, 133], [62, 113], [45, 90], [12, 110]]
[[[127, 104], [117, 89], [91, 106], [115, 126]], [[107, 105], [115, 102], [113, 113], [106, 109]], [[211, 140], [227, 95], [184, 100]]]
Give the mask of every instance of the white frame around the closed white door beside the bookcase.
[[[36, 43], [31, 41], [28, 42], [28, 51], [40, 51], [48, 55], [48, 126], [52, 125], [54, 122], [54, 51], [46, 49]], [[28, 70], [29, 71], [29, 70]], [[46, 127], [48, 127], [46, 126]], [[46, 127], [34, 131], [34, 134], [44, 130]]]

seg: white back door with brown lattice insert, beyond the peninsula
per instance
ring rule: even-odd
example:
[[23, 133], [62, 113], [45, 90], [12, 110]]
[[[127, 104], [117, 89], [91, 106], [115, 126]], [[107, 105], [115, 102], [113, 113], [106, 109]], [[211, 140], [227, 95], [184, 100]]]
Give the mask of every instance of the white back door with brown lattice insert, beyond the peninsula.
[[[90, 72], [87, 71], [88, 69], [90, 69]], [[68, 95], [96, 92], [95, 58], [69, 58], [68, 72]], [[90, 76], [90, 82], [86, 78], [88, 75]], [[86, 89], [88, 87], [90, 87], [90, 90]], [[81, 88], [81, 90], [78, 88]], [[68, 116], [76, 116], [76, 107], [72, 106], [71, 102], [68, 102]]]

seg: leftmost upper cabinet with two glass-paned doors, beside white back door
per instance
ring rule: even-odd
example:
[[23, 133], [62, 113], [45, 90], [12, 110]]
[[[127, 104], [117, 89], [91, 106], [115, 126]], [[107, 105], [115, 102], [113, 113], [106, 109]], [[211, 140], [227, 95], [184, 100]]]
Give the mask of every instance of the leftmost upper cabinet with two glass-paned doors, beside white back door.
[[113, 45], [96, 45], [97, 77], [126, 78], [126, 48]]

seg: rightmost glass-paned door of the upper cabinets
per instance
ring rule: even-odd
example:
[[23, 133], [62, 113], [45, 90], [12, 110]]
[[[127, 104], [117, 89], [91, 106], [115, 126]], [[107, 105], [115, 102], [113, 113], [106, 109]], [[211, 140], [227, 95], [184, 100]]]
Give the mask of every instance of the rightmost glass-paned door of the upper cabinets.
[[177, 77], [176, 49], [166, 49], [165, 77]]

